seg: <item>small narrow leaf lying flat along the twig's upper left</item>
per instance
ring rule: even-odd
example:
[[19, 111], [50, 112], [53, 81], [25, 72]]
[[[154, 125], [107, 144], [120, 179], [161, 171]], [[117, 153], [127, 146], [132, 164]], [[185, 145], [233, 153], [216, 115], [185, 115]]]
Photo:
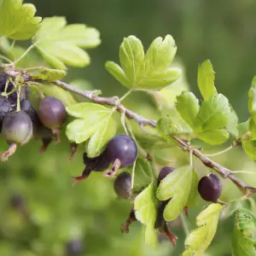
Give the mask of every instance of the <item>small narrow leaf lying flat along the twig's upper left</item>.
[[63, 79], [66, 72], [61, 69], [50, 69], [48, 67], [32, 67], [26, 70], [32, 79], [44, 80], [47, 82], [55, 82], [56, 80]]

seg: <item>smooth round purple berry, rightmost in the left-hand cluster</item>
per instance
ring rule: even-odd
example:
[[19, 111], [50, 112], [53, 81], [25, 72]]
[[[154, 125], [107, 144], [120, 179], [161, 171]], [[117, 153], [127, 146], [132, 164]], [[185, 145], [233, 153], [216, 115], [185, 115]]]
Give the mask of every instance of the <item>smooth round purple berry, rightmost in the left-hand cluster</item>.
[[67, 112], [60, 100], [46, 97], [40, 102], [38, 116], [44, 126], [55, 129], [60, 128], [66, 122]]

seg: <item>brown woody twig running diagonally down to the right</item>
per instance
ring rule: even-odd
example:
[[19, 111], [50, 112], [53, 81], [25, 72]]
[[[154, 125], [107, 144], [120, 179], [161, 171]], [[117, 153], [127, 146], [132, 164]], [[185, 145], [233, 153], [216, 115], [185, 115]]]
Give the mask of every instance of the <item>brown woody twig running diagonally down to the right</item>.
[[[64, 90], [69, 90], [78, 95], [84, 96], [84, 97], [90, 99], [92, 102], [116, 107], [120, 113], [125, 113], [125, 115], [128, 119], [136, 120], [140, 126], [149, 125], [151, 127], [156, 128], [155, 120], [145, 119], [145, 118], [143, 118], [143, 116], [132, 112], [130, 109], [125, 108], [125, 106], [122, 105], [121, 102], [119, 102], [119, 97], [117, 97], [117, 96], [113, 96], [113, 97], [98, 96], [98, 94], [100, 93], [99, 90], [79, 90], [77, 88], [74, 88], [72, 85], [66, 84], [60, 80], [55, 81], [55, 84]], [[182, 148], [184, 151], [187, 151], [187, 152], [192, 151], [192, 154], [194, 154], [195, 157], [197, 157], [199, 160], [201, 160], [203, 165], [218, 172], [218, 174], [224, 178], [230, 178], [230, 180], [233, 183], [235, 183], [239, 189], [244, 190], [244, 192], [246, 194], [251, 195], [253, 193], [256, 193], [256, 188], [253, 188], [253, 187], [249, 186], [247, 183], [244, 183], [241, 179], [239, 179], [234, 174], [232, 174], [230, 169], [219, 165], [215, 161], [211, 160], [210, 158], [208, 158], [207, 156], [202, 154], [198, 149], [191, 148], [189, 146], [189, 143], [184, 141], [183, 139], [176, 137], [176, 136], [173, 136], [172, 138], [177, 142], [177, 144], [179, 145], [180, 148]]]

